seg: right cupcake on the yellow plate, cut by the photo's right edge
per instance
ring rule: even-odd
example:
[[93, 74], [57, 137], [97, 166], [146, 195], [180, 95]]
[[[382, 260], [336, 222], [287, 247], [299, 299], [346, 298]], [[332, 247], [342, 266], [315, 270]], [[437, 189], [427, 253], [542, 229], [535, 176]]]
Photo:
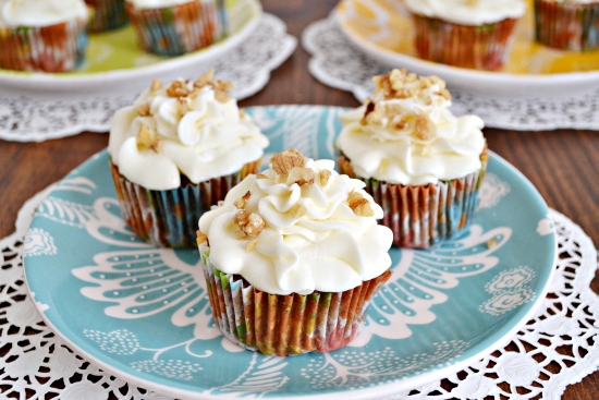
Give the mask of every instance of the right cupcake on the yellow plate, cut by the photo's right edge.
[[599, 0], [535, 0], [535, 34], [560, 50], [599, 49]]

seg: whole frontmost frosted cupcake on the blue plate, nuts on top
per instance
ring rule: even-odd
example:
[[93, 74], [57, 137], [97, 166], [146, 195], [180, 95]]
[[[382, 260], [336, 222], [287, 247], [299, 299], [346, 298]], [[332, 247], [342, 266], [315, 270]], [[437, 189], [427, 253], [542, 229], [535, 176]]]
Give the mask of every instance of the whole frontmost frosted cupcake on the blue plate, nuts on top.
[[212, 315], [234, 343], [264, 354], [327, 352], [364, 327], [391, 276], [391, 231], [364, 182], [297, 150], [272, 157], [199, 219]]

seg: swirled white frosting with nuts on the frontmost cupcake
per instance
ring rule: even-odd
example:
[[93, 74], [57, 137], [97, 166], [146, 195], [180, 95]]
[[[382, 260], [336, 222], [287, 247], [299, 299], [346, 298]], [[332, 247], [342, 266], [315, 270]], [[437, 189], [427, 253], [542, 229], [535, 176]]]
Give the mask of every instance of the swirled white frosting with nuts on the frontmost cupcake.
[[377, 225], [382, 209], [364, 183], [337, 173], [332, 160], [295, 166], [280, 173], [273, 158], [201, 216], [212, 265], [276, 294], [339, 292], [384, 272], [393, 234]]

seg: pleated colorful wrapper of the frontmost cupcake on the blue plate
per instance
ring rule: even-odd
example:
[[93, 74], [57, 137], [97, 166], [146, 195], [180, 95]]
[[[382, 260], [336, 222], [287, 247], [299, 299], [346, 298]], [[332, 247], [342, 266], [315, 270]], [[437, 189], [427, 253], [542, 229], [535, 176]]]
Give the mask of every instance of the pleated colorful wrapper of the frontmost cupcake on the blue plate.
[[242, 348], [264, 354], [328, 352], [351, 342], [364, 327], [368, 306], [391, 277], [381, 276], [344, 292], [269, 294], [239, 275], [228, 275], [199, 246], [212, 316], [222, 334]]

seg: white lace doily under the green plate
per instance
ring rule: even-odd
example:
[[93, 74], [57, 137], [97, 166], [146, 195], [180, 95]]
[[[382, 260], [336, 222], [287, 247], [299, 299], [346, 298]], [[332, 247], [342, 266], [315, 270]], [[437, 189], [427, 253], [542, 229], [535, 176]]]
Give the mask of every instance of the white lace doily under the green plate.
[[[245, 43], [216, 61], [198, 65], [198, 71], [215, 68], [218, 78], [233, 83], [233, 97], [249, 97], [268, 83], [270, 71], [295, 50], [297, 40], [285, 31], [280, 19], [264, 14]], [[0, 138], [41, 142], [83, 131], [107, 132], [114, 111], [131, 104], [137, 95], [119, 93], [118, 88], [112, 95], [96, 97], [80, 96], [76, 92], [24, 95], [0, 87]]]

